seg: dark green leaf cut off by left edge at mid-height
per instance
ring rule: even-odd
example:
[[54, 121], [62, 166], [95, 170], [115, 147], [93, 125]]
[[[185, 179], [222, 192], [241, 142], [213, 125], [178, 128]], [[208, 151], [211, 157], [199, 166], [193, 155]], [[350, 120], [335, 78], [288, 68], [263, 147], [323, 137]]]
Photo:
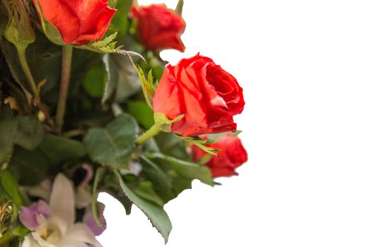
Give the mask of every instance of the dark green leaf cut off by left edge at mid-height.
[[11, 109], [0, 108], [0, 164], [7, 162], [13, 150], [13, 138], [18, 121], [11, 116]]

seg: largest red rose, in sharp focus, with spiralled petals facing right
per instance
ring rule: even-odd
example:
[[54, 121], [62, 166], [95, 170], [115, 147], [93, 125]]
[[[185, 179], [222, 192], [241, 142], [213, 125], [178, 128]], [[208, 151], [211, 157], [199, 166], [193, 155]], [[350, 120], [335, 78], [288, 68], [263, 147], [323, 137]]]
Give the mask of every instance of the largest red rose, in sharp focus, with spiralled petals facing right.
[[172, 124], [178, 135], [236, 131], [233, 116], [244, 108], [238, 81], [206, 56], [182, 59], [168, 65], [154, 95], [154, 112], [168, 119], [184, 114]]

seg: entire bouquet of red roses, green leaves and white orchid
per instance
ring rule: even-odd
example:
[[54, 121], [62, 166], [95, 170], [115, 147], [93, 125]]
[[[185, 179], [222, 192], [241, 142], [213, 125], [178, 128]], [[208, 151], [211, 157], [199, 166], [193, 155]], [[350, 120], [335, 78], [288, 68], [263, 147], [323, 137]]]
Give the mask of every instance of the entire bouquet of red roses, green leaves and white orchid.
[[238, 81], [185, 50], [183, 1], [0, 0], [0, 246], [101, 246], [99, 192], [142, 210], [247, 162]]

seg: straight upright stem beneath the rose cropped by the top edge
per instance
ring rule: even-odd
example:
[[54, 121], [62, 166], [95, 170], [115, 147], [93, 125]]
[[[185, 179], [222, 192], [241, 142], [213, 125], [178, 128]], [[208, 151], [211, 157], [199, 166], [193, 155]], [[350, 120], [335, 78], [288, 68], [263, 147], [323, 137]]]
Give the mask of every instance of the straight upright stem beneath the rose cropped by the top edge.
[[64, 113], [66, 112], [66, 101], [70, 77], [70, 66], [72, 63], [73, 47], [64, 45], [62, 48], [61, 88], [59, 90], [58, 105], [56, 107], [56, 125], [58, 133], [63, 128]]

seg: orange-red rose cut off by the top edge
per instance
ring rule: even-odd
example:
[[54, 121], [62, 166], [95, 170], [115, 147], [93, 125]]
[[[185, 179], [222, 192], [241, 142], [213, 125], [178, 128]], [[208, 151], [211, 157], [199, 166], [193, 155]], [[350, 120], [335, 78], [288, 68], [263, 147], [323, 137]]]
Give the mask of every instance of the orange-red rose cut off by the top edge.
[[116, 9], [108, 0], [33, 0], [42, 14], [61, 33], [66, 44], [86, 44], [100, 40]]

